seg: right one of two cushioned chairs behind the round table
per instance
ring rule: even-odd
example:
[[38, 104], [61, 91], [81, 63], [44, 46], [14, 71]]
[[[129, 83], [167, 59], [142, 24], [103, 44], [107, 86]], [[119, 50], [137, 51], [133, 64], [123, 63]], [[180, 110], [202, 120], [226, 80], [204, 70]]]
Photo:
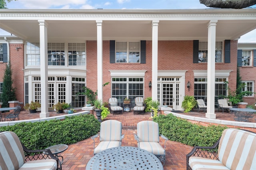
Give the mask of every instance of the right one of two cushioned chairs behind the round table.
[[158, 123], [154, 121], [140, 121], [137, 124], [137, 135], [134, 134], [135, 140], [138, 142], [138, 148], [147, 150], [156, 155], [160, 161], [165, 163], [165, 143], [168, 140], [161, 135], [164, 141], [164, 148], [159, 143]]

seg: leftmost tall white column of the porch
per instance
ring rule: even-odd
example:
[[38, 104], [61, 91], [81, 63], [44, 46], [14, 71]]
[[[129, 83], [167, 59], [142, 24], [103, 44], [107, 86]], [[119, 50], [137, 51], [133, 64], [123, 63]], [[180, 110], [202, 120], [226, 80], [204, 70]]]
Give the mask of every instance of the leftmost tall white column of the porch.
[[40, 29], [40, 74], [41, 74], [41, 113], [40, 118], [50, 117], [48, 112], [48, 56], [47, 23], [38, 20]]

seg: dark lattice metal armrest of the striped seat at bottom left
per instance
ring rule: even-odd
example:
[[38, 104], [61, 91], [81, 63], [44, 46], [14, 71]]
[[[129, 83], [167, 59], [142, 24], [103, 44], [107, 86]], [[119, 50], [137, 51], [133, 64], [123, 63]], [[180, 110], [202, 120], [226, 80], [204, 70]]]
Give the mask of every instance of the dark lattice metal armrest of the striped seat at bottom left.
[[[52, 154], [50, 149], [39, 149], [39, 150], [29, 150], [27, 149], [27, 147], [25, 147], [25, 145], [23, 145], [23, 143], [21, 143], [22, 148], [25, 152], [25, 161], [28, 160], [41, 160], [41, 159], [54, 159], [57, 162], [57, 167], [59, 170], [62, 169], [61, 164], [59, 164], [60, 160], [57, 156], [54, 156], [54, 154]], [[60, 166], [60, 168], [59, 168]]]

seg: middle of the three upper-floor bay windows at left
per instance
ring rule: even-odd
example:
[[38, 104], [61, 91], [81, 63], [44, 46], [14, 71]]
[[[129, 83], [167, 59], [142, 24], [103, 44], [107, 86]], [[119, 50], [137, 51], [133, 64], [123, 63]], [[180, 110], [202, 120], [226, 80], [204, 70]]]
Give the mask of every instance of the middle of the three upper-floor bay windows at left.
[[48, 66], [64, 66], [64, 43], [48, 43]]

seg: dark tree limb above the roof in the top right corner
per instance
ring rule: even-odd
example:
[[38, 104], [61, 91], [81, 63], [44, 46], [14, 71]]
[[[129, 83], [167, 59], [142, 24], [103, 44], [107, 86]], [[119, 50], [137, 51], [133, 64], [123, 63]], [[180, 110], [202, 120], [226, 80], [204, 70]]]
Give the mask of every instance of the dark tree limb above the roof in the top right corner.
[[256, 0], [199, 0], [201, 4], [213, 8], [242, 9], [256, 4]]

